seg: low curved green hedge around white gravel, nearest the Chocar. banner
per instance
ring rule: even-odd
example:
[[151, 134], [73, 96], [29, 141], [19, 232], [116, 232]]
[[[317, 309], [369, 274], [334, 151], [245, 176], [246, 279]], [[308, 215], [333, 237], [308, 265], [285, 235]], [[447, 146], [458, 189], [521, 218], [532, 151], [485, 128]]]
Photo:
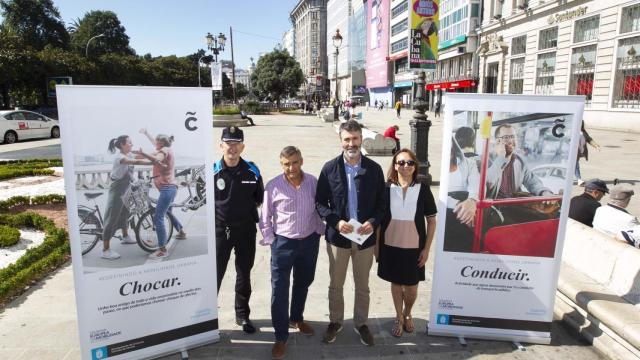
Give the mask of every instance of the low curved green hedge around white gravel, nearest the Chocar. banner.
[[23, 289], [69, 259], [69, 236], [53, 222], [35, 213], [1, 214], [0, 225], [35, 228], [44, 231], [42, 244], [28, 249], [15, 263], [0, 269], [0, 303], [20, 294]]

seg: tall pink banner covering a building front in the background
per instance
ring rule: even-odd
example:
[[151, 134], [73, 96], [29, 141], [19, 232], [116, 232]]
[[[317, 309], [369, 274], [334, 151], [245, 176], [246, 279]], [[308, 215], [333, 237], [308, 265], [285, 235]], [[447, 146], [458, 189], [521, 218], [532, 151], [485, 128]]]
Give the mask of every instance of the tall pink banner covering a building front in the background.
[[389, 85], [387, 57], [389, 56], [389, 2], [371, 0], [367, 4], [367, 61], [368, 88]]

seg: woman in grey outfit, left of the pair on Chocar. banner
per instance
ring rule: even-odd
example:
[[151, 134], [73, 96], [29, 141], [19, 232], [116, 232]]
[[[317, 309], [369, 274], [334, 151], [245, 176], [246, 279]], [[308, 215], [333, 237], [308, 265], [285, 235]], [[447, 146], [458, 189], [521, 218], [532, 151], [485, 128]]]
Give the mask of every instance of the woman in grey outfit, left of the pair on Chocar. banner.
[[107, 199], [107, 210], [104, 215], [104, 229], [102, 231], [102, 255], [103, 259], [115, 260], [120, 254], [111, 250], [110, 241], [117, 229], [122, 230], [122, 244], [135, 244], [136, 241], [129, 237], [127, 219], [129, 210], [122, 202], [131, 181], [133, 181], [133, 165], [151, 165], [151, 162], [143, 159], [136, 159], [131, 152], [133, 143], [128, 135], [120, 135], [109, 141], [108, 150], [114, 154], [119, 150], [113, 159], [111, 169], [111, 185], [109, 185], [109, 198]]

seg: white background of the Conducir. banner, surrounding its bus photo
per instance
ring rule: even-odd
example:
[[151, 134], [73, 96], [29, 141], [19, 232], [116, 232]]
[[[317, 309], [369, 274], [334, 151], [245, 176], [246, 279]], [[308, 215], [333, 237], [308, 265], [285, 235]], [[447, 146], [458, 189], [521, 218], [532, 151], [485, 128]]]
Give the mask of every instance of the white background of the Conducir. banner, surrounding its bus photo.
[[[438, 199], [438, 225], [436, 230], [436, 257], [428, 333], [430, 335], [468, 336], [548, 344], [548, 331], [518, 330], [526, 328], [527, 321], [550, 323], [553, 318], [555, 289], [560, 271], [565, 226], [571, 198], [573, 169], [575, 167], [580, 119], [584, 106], [582, 96], [522, 96], [486, 94], [446, 94], [442, 169]], [[563, 150], [566, 178], [562, 183], [562, 207], [553, 257], [497, 255], [487, 253], [444, 251], [446, 214], [449, 189], [449, 163], [454, 117], [461, 112], [511, 113], [514, 116], [533, 113], [563, 113], [571, 118], [565, 135], [570, 144]], [[455, 115], [454, 115], [455, 114]], [[494, 120], [495, 121], [495, 120]], [[478, 119], [482, 123], [482, 118]], [[493, 131], [491, 139], [493, 141]], [[477, 130], [480, 139], [480, 130]], [[477, 143], [480, 143], [478, 141]], [[493, 144], [491, 144], [493, 145]], [[478, 153], [482, 149], [476, 146]], [[492, 147], [489, 148], [490, 151]], [[465, 268], [466, 267], [466, 268]], [[472, 267], [472, 268], [470, 268]], [[526, 273], [522, 280], [473, 278], [473, 270]], [[489, 290], [487, 290], [489, 289]], [[496, 290], [500, 289], [500, 290]], [[449, 318], [465, 318], [464, 326], [451, 325]], [[478, 319], [481, 326], [473, 326]], [[492, 319], [502, 321], [500, 328], [487, 326]], [[476, 323], [478, 324], [478, 323]], [[506, 326], [505, 326], [506, 325]], [[513, 325], [510, 327], [509, 325]], [[548, 326], [550, 328], [550, 325]]]

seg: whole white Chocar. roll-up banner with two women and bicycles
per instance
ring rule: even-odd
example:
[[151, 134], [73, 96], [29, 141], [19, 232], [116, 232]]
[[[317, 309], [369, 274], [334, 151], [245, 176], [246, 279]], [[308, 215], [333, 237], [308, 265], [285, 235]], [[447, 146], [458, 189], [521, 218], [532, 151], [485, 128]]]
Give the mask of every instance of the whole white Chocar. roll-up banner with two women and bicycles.
[[211, 90], [57, 92], [82, 358], [217, 341]]

